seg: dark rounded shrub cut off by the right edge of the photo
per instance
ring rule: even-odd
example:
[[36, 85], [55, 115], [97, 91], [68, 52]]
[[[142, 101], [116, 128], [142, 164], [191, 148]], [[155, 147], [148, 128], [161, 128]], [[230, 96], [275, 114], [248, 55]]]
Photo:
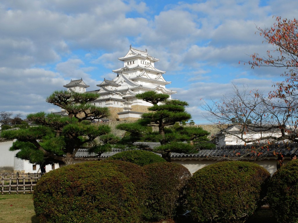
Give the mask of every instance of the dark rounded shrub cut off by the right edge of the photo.
[[267, 200], [277, 222], [298, 222], [298, 160], [288, 162], [272, 175]]

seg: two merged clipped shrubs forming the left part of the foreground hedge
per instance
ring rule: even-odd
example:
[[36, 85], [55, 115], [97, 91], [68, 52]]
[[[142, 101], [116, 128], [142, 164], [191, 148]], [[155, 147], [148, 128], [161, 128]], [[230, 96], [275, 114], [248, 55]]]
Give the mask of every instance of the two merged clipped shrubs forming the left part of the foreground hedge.
[[144, 168], [113, 160], [74, 164], [38, 181], [34, 208], [41, 222], [51, 223], [168, 219], [176, 215], [179, 191], [190, 176], [187, 168], [167, 162]]

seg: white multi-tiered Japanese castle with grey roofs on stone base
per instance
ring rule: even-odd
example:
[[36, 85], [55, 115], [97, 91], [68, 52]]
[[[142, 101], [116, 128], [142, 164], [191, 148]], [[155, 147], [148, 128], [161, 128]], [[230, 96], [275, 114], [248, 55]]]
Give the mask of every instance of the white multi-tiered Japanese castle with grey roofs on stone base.
[[[171, 81], [166, 81], [162, 76], [165, 71], [155, 68], [154, 63], [159, 59], [150, 56], [145, 51], [132, 48], [123, 57], [118, 58], [123, 61], [123, 67], [112, 70], [115, 78], [112, 80], [104, 79], [102, 83], [96, 86], [98, 90], [86, 91], [89, 85], [82, 79], [71, 80], [69, 84], [63, 85], [74, 92], [92, 92], [98, 94], [98, 98], [91, 103], [96, 106], [108, 107], [111, 112], [110, 120], [135, 120], [140, 118], [141, 114], [148, 112], [151, 103], [137, 99], [136, 94], [155, 91], [157, 93], [169, 95], [175, 94], [166, 88]], [[117, 75], [116, 75], [117, 74]]]

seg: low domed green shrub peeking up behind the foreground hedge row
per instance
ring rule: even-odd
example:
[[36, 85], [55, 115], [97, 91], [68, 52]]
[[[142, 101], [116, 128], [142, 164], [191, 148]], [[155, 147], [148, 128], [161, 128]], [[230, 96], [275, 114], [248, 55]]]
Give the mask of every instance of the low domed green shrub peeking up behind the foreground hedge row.
[[127, 150], [117, 153], [108, 158], [108, 160], [122, 160], [139, 166], [145, 166], [152, 163], [166, 162], [162, 157], [155, 153], [145, 150]]

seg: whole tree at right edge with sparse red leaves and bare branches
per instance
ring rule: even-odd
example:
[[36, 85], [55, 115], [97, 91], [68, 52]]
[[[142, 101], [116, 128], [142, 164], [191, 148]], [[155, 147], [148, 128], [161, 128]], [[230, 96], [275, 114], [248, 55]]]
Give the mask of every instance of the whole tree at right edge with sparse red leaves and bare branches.
[[[237, 125], [239, 132], [229, 134], [238, 137], [244, 143], [298, 142], [298, 21], [276, 17], [269, 28], [257, 27], [264, 37], [263, 42], [273, 46], [266, 56], [251, 55], [248, 63], [254, 67], [284, 68], [285, 79], [272, 85], [273, 90], [264, 95], [260, 90], [243, 91], [234, 86], [234, 94], [224, 96], [213, 105], [205, 104], [209, 112], [206, 118], [220, 124], [222, 131], [227, 126]], [[265, 134], [266, 132], [276, 134]], [[249, 138], [247, 132], [263, 132], [258, 137]], [[228, 132], [226, 132], [228, 134]], [[262, 145], [263, 146], [263, 145]]]

